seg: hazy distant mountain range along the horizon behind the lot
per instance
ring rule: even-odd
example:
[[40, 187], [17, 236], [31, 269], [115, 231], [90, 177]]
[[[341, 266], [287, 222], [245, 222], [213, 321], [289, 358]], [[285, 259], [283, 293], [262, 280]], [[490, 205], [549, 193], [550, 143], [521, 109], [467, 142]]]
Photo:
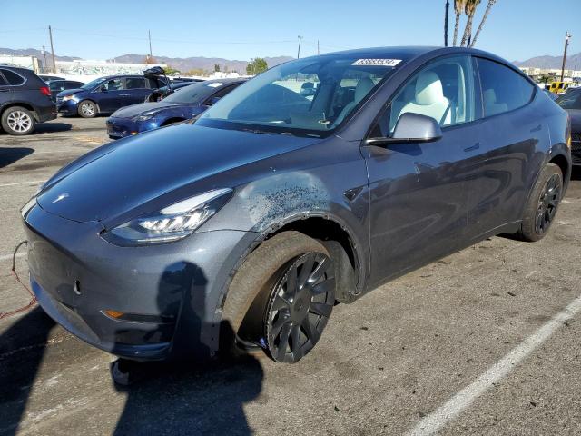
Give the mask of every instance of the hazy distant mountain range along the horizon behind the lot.
[[[1, 48], [0, 54], [8, 54], [13, 56], [36, 56], [41, 61], [44, 59], [44, 54], [40, 50], [34, 48], [26, 49], [11, 49], [11, 48]], [[48, 63], [50, 63], [50, 52], [46, 52], [46, 58]], [[74, 61], [81, 60], [82, 58], [76, 56], [54, 56], [57, 61]], [[202, 57], [202, 56], [192, 56], [192, 57], [167, 57], [167, 56], [153, 56], [157, 63], [167, 64], [172, 66], [177, 70], [182, 71], [182, 73], [193, 70], [201, 69], [206, 71], [213, 71], [214, 65], [220, 65], [222, 71], [237, 71], [239, 73], [246, 72], [247, 61], [236, 61], [223, 59], [221, 57]], [[130, 64], [142, 64], [145, 59], [145, 54], [123, 54], [121, 56], [109, 59], [114, 62], [130, 63]], [[277, 57], [265, 57], [266, 63], [269, 66], [274, 66], [282, 64], [292, 60], [291, 56], [277, 56]], [[562, 56], [537, 56], [531, 57], [526, 61], [513, 61], [513, 64], [517, 66], [532, 66], [537, 68], [561, 68], [561, 63], [563, 62]], [[581, 70], [581, 53], [571, 54], [567, 56], [566, 59], [566, 69], [576, 69]]]

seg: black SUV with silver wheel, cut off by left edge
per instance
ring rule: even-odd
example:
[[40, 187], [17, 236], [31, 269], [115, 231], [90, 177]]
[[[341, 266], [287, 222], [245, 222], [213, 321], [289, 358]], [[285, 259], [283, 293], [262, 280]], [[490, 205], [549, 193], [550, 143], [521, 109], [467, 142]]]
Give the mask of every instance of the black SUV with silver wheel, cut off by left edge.
[[31, 134], [36, 123], [54, 120], [48, 85], [26, 68], [0, 65], [0, 122], [8, 134]]

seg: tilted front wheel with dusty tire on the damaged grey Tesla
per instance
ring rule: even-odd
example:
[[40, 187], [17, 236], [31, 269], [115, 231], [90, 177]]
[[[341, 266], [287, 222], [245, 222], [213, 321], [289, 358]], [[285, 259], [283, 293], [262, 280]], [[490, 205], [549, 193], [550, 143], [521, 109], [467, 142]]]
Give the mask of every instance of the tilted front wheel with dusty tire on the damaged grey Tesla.
[[[300, 273], [309, 267], [309, 274]], [[313, 282], [303, 280], [311, 277]], [[304, 285], [296, 287], [288, 306], [280, 307], [281, 292], [290, 292], [293, 278], [298, 283], [303, 280]], [[245, 345], [258, 343], [276, 362], [300, 361], [319, 341], [327, 324], [335, 286], [330, 253], [321, 243], [299, 232], [273, 236], [249, 254], [231, 281], [222, 312], [222, 322], [227, 325], [222, 325], [221, 332], [233, 332], [234, 337], [221, 335], [222, 349], [240, 355], [248, 352]], [[289, 346], [285, 344], [281, 352], [283, 333]]]

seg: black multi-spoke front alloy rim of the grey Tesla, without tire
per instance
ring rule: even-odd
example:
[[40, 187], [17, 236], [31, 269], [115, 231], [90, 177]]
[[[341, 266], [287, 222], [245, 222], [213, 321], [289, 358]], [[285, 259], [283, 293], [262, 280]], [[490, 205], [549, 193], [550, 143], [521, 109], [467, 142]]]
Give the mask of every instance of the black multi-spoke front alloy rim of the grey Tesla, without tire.
[[323, 253], [300, 255], [271, 292], [265, 346], [276, 362], [294, 363], [319, 342], [335, 302], [334, 268]]

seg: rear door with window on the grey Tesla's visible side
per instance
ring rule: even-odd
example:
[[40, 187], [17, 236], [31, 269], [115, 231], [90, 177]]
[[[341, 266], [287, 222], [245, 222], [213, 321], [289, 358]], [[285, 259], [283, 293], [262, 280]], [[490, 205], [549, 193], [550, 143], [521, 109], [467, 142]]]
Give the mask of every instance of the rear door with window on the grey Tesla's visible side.
[[483, 118], [478, 143], [485, 160], [469, 183], [468, 233], [485, 233], [521, 218], [545, 154], [548, 126], [535, 101], [537, 86], [516, 70], [476, 57]]

